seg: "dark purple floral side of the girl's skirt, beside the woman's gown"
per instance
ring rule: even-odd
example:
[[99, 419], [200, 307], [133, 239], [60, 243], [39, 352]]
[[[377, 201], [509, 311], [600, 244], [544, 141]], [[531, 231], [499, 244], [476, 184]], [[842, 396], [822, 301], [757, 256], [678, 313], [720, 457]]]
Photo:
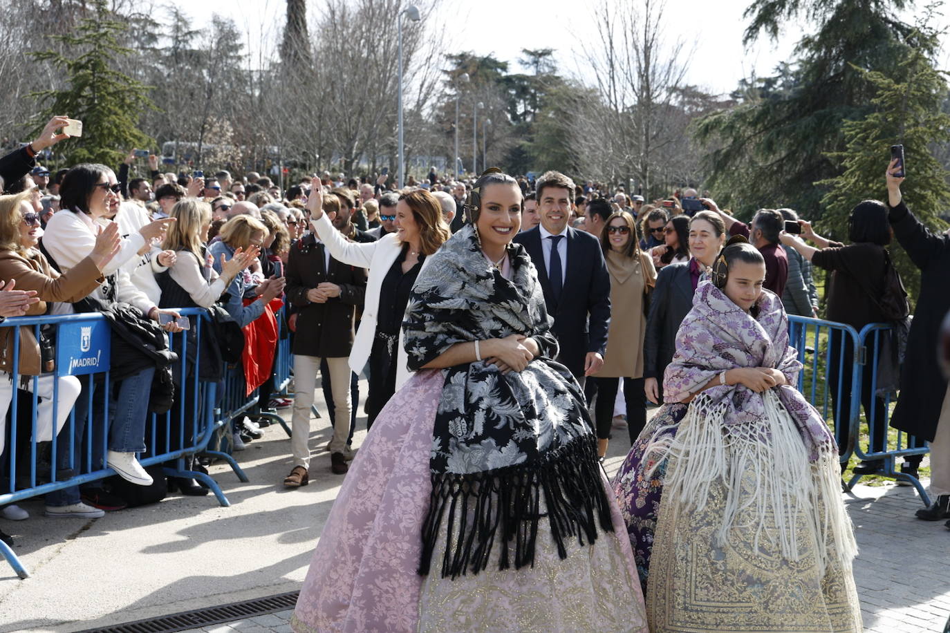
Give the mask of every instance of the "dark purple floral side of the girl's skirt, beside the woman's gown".
[[[659, 504], [663, 496], [666, 460], [656, 465], [656, 470], [650, 473], [654, 468], [655, 460], [644, 460], [643, 454], [660, 429], [666, 427], [661, 436], [675, 436], [679, 422], [686, 416], [687, 408], [686, 404], [664, 404], [640, 432], [614, 478], [614, 493], [617, 494], [620, 514], [623, 515], [623, 521], [627, 524], [627, 534], [630, 536], [630, 545], [634, 549], [637, 573], [640, 576], [644, 595], [646, 595], [647, 576], [650, 572], [650, 553], [653, 551], [656, 517], [659, 515]], [[647, 476], [648, 473], [650, 473], [649, 476]]]

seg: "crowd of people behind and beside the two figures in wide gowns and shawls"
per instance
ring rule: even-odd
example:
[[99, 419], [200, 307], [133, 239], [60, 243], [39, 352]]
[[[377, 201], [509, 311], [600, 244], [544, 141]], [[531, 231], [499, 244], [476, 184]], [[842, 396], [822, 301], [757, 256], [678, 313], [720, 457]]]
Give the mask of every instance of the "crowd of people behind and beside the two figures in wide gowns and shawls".
[[[245, 366], [245, 379], [260, 389], [262, 414], [234, 420], [225, 448], [243, 450], [262, 436], [267, 414], [293, 408], [292, 469], [283, 484], [307, 485], [319, 373], [334, 427], [327, 447], [331, 471], [346, 474], [360, 402], [357, 376], [369, 378], [365, 412], [370, 428], [408, 378], [400, 329], [409, 290], [427, 257], [465, 225], [471, 179], [439, 177], [432, 170], [426, 180], [409, 178], [405, 188], [397, 189], [385, 175], [347, 178], [323, 172], [295, 178], [285, 191], [253, 171], [163, 173], [154, 155], [147, 158], [147, 169], [133, 173], [135, 151], [115, 171], [78, 164], [53, 174], [36, 158], [66, 138], [59, 132], [63, 124], [63, 118], [54, 118], [37, 140], [0, 158], [5, 183], [0, 314], [118, 312], [136, 324], [149, 349], [160, 353], [168, 349], [168, 334], [187, 329], [193, 336], [194, 324], [182, 323], [178, 308], [217, 307], [220, 318], [254, 341], [255, 368]], [[673, 357], [679, 324], [730, 235], [746, 236], [762, 253], [764, 287], [782, 298], [789, 314], [823, 314], [814, 273], [822, 269], [831, 272], [826, 319], [858, 329], [885, 320], [874, 296], [883, 292], [885, 247], [892, 234], [888, 220], [893, 222], [894, 214], [889, 216], [883, 203], [855, 208], [845, 245], [815, 233], [794, 210], [761, 209], [746, 224], [694, 189], [648, 202], [623, 187], [611, 190], [592, 181], [577, 185], [558, 172], [518, 182], [524, 204], [515, 242], [538, 270], [559, 339], [558, 360], [594, 403], [600, 456], [612, 428], [626, 426], [633, 440], [643, 428], [647, 406], [663, 401], [663, 372]], [[788, 223], [800, 227], [795, 233], [801, 237], [786, 233]], [[278, 319], [286, 319], [279, 328]], [[274, 393], [278, 330], [293, 337], [293, 398]], [[9, 333], [10, 328], [0, 328], [3, 349]], [[854, 349], [834, 338], [830, 348], [831, 363], [850, 370]], [[36, 439], [56, 442], [55, 466], [66, 471], [70, 456], [73, 463], [81, 462], [85, 425], [91, 424], [92, 437], [107, 441], [93, 443], [88, 468], [108, 466], [128, 482], [148, 486], [155, 472], [142, 468], [136, 456], [154, 448], [145, 445], [144, 429], [155, 410], [150, 400], [155, 400], [156, 375], [170, 365], [177, 377], [180, 363], [188, 376], [199, 372], [204, 378], [205, 372], [172, 355], [166, 355], [166, 363], [144, 353], [113, 350], [113, 356], [108, 389], [62, 377], [55, 402], [52, 375], [42, 367], [35, 370], [41, 376]], [[42, 360], [21, 355], [21, 370]], [[15, 393], [10, 363], [0, 362], [0, 371], [9, 381], [0, 380], [0, 409], [6, 411]], [[851, 382], [845, 376], [829, 384], [844, 448]], [[73, 433], [67, 434], [67, 413], [90, 390], [96, 395], [92, 417], [86, 419], [85, 408], [77, 408]], [[863, 405], [870, 416], [883, 400], [867, 393]], [[2, 418], [0, 424], [6, 424]], [[872, 448], [883, 447], [884, 431], [879, 425]], [[14, 447], [5, 449], [6, 435], [0, 433], [0, 452], [9, 453]], [[188, 466], [202, 468], [193, 458]], [[916, 473], [916, 464], [905, 466]], [[859, 468], [856, 472], [873, 473], [880, 464]], [[181, 493], [207, 493], [192, 479], [168, 483]], [[95, 517], [123, 506], [123, 499], [101, 483], [46, 496], [49, 516]], [[26, 514], [12, 505], [2, 512], [10, 519]]]

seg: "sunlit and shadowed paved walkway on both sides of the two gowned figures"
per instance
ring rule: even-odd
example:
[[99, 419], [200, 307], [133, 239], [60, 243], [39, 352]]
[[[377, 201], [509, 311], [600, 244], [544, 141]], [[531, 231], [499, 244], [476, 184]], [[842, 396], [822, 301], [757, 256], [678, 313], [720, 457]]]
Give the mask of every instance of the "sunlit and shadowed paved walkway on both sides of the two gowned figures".
[[[365, 381], [360, 389], [365, 395]], [[317, 398], [325, 411], [319, 390]], [[365, 429], [362, 416], [358, 426]], [[2, 525], [33, 576], [21, 581], [0, 561], [0, 633], [78, 631], [299, 589], [343, 478], [330, 473], [329, 455], [319, 452], [310, 486], [285, 491], [280, 482], [290, 471], [290, 442], [279, 426], [265, 432], [237, 454], [249, 483], [226, 466], [210, 469], [230, 508], [211, 496], [172, 495], [83, 521], [45, 518], [39, 500], [22, 504], [32, 517]], [[314, 420], [311, 436], [312, 447], [326, 445], [326, 417]], [[618, 431], [610, 444], [610, 475], [629, 449], [625, 436]], [[358, 432], [354, 444], [364, 437]], [[921, 503], [910, 488], [859, 485], [846, 504], [861, 548], [855, 579], [865, 630], [941, 631], [950, 616], [950, 531], [942, 522], [913, 518]], [[290, 616], [284, 611], [198, 630], [289, 631]]]

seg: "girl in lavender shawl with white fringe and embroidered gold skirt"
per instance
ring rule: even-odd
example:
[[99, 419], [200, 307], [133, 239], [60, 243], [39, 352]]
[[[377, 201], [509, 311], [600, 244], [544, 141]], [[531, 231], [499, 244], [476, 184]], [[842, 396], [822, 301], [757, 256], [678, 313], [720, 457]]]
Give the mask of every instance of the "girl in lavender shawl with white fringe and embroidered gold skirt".
[[701, 281], [669, 394], [614, 481], [650, 630], [854, 631], [857, 552], [837, 446], [761, 253], [733, 238]]

